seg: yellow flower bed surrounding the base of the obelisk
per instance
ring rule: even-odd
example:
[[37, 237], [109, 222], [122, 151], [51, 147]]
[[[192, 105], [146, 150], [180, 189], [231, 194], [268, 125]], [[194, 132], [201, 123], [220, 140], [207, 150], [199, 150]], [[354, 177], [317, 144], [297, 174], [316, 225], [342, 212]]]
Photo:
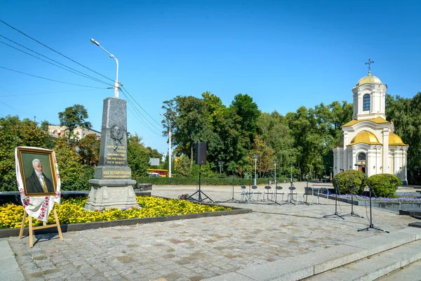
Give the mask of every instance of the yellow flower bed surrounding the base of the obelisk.
[[[125, 218], [150, 218], [156, 216], [179, 216], [184, 214], [199, 214], [210, 211], [228, 211], [231, 208], [196, 204], [186, 200], [163, 199], [157, 197], [138, 196], [140, 208], [128, 209], [105, 209], [98, 211], [86, 211], [83, 209], [88, 198], [62, 200], [61, 204], [55, 205], [60, 223], [91, 223], [93, 221], [115, 221]], [[22, 225], [23, 207], [16, 204], [0, 206], [0, 228], [20, 228]], [[25, 226], [28, 226], [29, 218], [26, 218]], [[41, 226], [42, 221], [34, 218], [33, 226]], [[54, 223], [51, 213], [48, 223]]]

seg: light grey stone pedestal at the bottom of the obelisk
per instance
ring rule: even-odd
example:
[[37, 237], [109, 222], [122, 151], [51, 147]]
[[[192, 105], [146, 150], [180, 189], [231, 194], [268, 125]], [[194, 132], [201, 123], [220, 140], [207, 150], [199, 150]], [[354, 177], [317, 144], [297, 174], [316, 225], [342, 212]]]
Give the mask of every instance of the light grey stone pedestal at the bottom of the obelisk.
[[95, 211], [99, 209], [126, 209], [138, 207], [136, 195], [133, 191], [135, 180], [90, 180], [91, 192], [85, 209]]

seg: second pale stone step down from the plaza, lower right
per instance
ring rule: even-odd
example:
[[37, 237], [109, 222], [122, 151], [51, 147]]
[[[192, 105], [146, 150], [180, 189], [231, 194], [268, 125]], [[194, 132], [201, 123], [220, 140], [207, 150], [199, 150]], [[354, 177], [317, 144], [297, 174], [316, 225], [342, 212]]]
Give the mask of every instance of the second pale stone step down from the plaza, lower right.
[[[305, 280], [377, 280], [384, 275], [399, 270], [421, 259], [421, 240], [403, 244], [399, 247], [382, 251], [365, 259], [333, 268]], [[400, 280], [400, 279], [398, 279]], [[420, 275], [418, 279], [420, 280]]]

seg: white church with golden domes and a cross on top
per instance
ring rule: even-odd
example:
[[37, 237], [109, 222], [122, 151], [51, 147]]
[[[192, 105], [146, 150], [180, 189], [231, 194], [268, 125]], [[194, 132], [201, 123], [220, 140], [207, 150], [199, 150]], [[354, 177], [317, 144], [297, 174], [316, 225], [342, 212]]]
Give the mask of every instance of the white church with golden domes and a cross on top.
[[394, 174], [406, 178], [408, 145], [394, 133], [394, 125], [386, 120], [386, 90], [378, 77], [371, 74], [359, 79], [352, 89], [354, 115], [352, 121], [342, 126], [343, 138], [333, 148], [334, 173], [355, 169], [367, 176]]

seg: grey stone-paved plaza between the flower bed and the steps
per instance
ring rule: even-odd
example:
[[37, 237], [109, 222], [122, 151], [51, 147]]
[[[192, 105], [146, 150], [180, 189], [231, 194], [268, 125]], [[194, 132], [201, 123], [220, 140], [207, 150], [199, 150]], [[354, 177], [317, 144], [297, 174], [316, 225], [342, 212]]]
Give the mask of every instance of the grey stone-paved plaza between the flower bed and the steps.
[[[295, 185], [302, 198], [305, 183]], [[154, 186], [152, 195], [177, 197], [195, 191], [196, 187]], [[232, 198], [232, 188], [203, 186], [201, 191], [215, 201]], [[234, 187], [234, 198], [240, 197], [239, 187]], [[354, 207], [364, 218], [323, 218], [335, 212], [335, 205], [333, 200], [327, 205], [324, 198], [320, 202], [325, 204], [229, 202], [223, 204], [251, 208], [253, 213], [63, 233], [64, 241], [58, 235], [36, 235], [32, 249], [28, 237], [4, 241], [25, 280], [162, 281], [203, 280], [286, 257], [323, 255], [330, 247], [388, 235], [357, 232], [369, 225], [366, 207]], [[349, 204], [339, 204], [340, 214], [350, 211]], [[374, 225], [390, 233], [408, 228], [413, 221], [409, 216], [373, 209]], [[0, 246], [5, 248], [4, 243]], [[0, 269], [2, 273], [8, 270], [1, 264]], [[6, 280], [4, 275], [0, 280]]]

